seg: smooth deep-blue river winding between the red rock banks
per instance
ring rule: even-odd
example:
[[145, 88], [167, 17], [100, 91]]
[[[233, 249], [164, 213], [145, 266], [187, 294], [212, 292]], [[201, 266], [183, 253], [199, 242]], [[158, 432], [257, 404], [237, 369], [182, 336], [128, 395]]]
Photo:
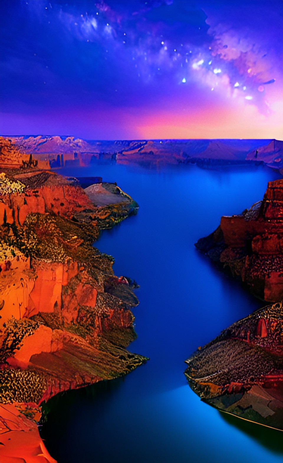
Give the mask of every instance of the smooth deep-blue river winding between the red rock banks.
[[51, 455], [59, 463], [282, 463], [281, 432], [209, 407], [184, 375], [198, 346], [262, 306], [194, 243], [221, 215], [262, 199], [279, 173], [116, 164], [57, 172], [116, 181], [140, 206], [95, 246], [115, 257], [116, 275], [140, 284], [129, 350], [150, 360], [123, 379], [50, 400], [41, 436]]

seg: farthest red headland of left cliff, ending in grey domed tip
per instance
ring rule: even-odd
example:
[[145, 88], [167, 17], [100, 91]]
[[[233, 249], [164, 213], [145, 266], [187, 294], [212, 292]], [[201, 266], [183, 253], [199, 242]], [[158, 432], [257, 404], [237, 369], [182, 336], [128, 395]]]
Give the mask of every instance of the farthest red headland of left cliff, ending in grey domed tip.
[[[98, 225], [98, 233], [99, 228], [112, 226], [136, 213], [137, 203], [115, 184], [98, 185], [82, 190], [75, 178], [50, 171], [6, 169], [0, 174], [0, 192], [4, 191], [0, 200], [0, 225], [21, 226], [30, 213], [53, 213], [92, 224], [94, 228]], [[102, 195], [99, 191], [95, 193], [96, 188], [104, 191], [104, 204], [100, 204]], [[23, 194], [18, 194], [21, 192]]]

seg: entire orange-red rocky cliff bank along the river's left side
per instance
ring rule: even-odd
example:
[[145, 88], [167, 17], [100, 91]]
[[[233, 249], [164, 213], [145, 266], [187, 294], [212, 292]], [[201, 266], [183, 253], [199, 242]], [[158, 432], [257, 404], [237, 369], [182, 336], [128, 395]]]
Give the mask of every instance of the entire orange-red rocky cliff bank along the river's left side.
[[99, 186], [102, 204], [73, 178], [0, 175], [0, 461], [54, 462], [37, 431], [43, 400], [146, 361], [126, 350], [136, 284], [92, 246], [138, 205], [116, 185]]

